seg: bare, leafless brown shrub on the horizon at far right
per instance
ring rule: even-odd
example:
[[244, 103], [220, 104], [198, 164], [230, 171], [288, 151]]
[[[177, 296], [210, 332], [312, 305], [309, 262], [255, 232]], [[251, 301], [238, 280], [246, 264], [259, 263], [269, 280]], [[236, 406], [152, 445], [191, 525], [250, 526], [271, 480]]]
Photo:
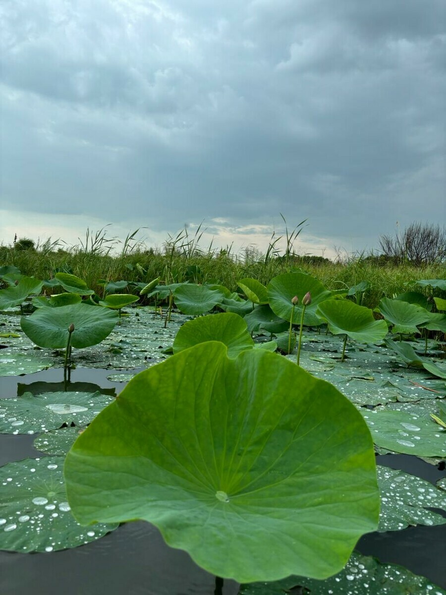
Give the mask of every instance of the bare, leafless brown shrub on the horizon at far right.
[[431, 264], [446, 259], [446, 228], [431, 223], [411, 223], [403, 233], [379, 239], [382, 253], [396, 262]]

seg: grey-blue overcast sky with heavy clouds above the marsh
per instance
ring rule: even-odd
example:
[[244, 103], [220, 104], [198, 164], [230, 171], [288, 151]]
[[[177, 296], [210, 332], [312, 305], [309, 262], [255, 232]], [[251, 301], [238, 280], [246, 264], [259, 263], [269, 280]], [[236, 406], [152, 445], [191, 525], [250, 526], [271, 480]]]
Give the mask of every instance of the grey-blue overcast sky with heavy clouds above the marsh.
[[[0, 242], [446, 221], [444, 0], [2, 0]], [[195, 226], [195, 227], [194, 227]]]

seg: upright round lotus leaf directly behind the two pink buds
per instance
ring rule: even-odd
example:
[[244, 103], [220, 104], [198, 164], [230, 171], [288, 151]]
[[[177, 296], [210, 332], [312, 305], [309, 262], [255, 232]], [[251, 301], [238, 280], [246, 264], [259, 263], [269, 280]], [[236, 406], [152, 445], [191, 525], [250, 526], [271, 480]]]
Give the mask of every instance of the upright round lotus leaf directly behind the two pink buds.
[[290, 322], [294, 296], [299, 298], [299, 304], [294, 307], [293, 323], [299, 324], [302, 315], [302, 299], [307, 292], [311, 294], [311, 303], [305, 309], [304, 324], [318, 326], [321, 320], [316, 316], [318, 304], [331, 297], [331, 292], [310, 275], [305, 273], [285, 273], [271, 279], [268, 283], [268, 298], [274, 314]]

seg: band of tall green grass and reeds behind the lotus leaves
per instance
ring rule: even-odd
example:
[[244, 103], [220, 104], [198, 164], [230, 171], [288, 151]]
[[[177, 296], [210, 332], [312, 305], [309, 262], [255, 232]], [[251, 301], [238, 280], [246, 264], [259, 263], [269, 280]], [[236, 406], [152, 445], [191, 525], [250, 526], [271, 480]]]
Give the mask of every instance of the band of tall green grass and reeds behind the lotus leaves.
[[[149, 283], [156, 277], [160, 284], [219, 283], [235, 292], [241, 278], [255, 278], [267, 285], [281, 273], [298, 270], [318, 278], [329, 290], [348, 290], [366, 281], [368, 289], [360, 296], [360, 303], [368, 308], [376, 308], [384, 296], [413, 290], [417, 280], [446, 278], [444, 258], [413, 262], [398, 255], [358, 253], [331, 261], [322, 256], [299, 255], [293, 243], [300, 229], [301, 224], [288, 231], [285, 221], [284, 249], [278, 248], [282, 236], [273, 234], [265, 253], [246, 248], [238, 254], [232, 252], [231, 246], [200, 246], [201, 226], [193, 236], [186, 228], [177, 236], [169, 236], [161, 249], [147, 248], [137, 239], [139, 230], [129, 233], [121, 242], [108, 237], [106, 227], [95, 232], [87, 229], [85, 239], [71, 248], [61, 240], [50, 238], [34, 243], [16, 237], [11, 245], [0, 246], [0, 264], [13, 265], [21, 273], [41, 279], [52, 278], [59, 272], [74, 274], [98, 295], [103, 293], [103, 281]], [[426, 291], [429, 296], [429, 289]]]

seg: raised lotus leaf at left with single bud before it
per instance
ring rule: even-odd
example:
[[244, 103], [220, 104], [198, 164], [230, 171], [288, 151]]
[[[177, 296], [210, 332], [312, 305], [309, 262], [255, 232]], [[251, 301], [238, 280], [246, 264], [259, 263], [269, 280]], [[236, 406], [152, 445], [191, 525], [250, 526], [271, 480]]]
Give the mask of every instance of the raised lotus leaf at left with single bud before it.
[[62, 349], [67, 346], [68, 327], [74, 324], [71, 346], [81, 348], [100, 343], [114, 329], [117, 320], [117, 312], [78, 303], [40, 308], [29, 317], [21, 317], [20, 326], [39, 347]]

